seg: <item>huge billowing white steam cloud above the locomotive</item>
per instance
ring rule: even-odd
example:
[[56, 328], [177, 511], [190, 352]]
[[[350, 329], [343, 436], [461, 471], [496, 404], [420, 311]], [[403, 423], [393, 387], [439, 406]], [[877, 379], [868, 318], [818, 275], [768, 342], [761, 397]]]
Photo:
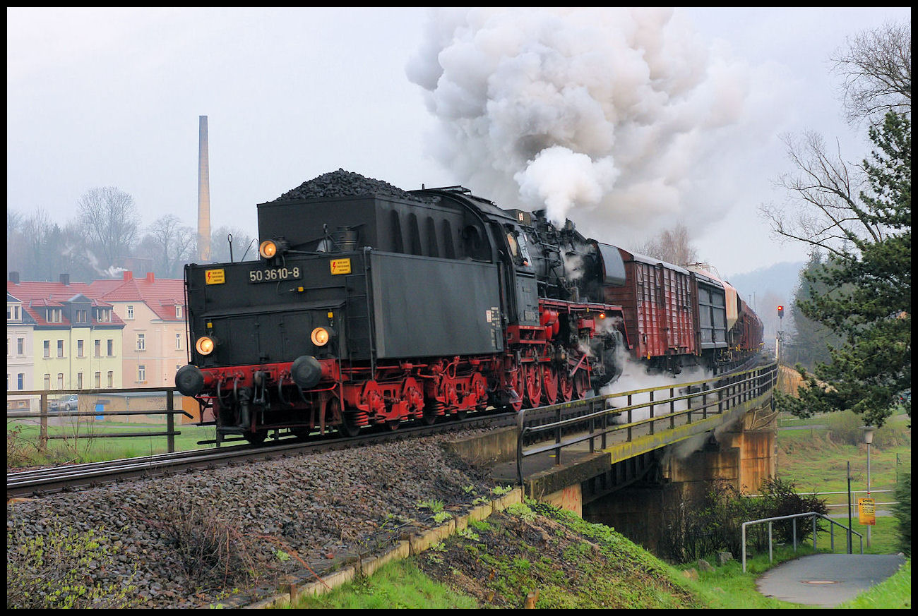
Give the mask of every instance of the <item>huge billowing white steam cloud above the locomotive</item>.
[[407, 73], [459, 181], [621, 241], [732, 201], [711, 192], [756, 138], [750, 71], [714, 49], [671, 9], [448, 9]]

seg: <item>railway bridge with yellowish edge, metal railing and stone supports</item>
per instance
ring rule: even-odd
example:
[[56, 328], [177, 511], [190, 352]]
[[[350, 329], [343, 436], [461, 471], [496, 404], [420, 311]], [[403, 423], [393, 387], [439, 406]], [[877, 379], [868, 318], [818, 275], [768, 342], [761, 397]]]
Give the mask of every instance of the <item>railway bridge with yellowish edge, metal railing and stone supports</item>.
[[717, 377], [521, 411], [515, 427], [453, 444], [527, 496], [648, 547], [711, 479], [756, 490], [774, 476], [774, 362]]

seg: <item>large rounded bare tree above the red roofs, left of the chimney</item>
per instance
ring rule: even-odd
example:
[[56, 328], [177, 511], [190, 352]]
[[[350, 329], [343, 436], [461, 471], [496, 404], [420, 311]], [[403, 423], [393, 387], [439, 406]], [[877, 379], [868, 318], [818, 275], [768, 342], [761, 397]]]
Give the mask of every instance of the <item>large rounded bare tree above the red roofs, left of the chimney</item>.
[[103, 269], [127, 256], [140, 232], [140, 216], [129, 193], [115, 186], [94, 188], [77, 201], [78, 223], [86, 242], [103, 260]]

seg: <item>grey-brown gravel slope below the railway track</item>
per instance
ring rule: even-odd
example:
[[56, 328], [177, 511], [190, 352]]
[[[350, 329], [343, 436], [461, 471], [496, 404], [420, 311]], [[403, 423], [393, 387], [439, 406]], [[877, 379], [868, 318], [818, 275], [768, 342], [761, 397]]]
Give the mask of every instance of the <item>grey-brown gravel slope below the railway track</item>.
[[[133, 576], [138, 607], [206, 608], [234, 589], [257, 600], [275, 593], [285, 574], [325, 575], [355, 555], [385, 550], [411, 528], [437, 525], [430, 507], [419, 502], [442, 501], [458, 515], [488, 496], [492, 484], [485, 472], [442, 447], [472, 434], [303, 454], [7, 503], [7, 562], [28, 537], [54, 529], [97, 529], [117, 552], [111, 563], [91, 564], [87, 578], [120, 586]], [[259, 575], [245, 575], [248, 569]]]

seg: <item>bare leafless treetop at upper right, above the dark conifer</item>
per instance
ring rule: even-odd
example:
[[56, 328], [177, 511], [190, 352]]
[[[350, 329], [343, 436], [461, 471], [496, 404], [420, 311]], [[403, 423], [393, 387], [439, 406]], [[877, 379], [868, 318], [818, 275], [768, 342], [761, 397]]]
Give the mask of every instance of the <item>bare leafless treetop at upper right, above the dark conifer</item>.
[[912, 113], [912, 25], [887, 23], [858, 33], [832, 58], [843, 79], [848, 121], [871, 124], [892, 111]]

